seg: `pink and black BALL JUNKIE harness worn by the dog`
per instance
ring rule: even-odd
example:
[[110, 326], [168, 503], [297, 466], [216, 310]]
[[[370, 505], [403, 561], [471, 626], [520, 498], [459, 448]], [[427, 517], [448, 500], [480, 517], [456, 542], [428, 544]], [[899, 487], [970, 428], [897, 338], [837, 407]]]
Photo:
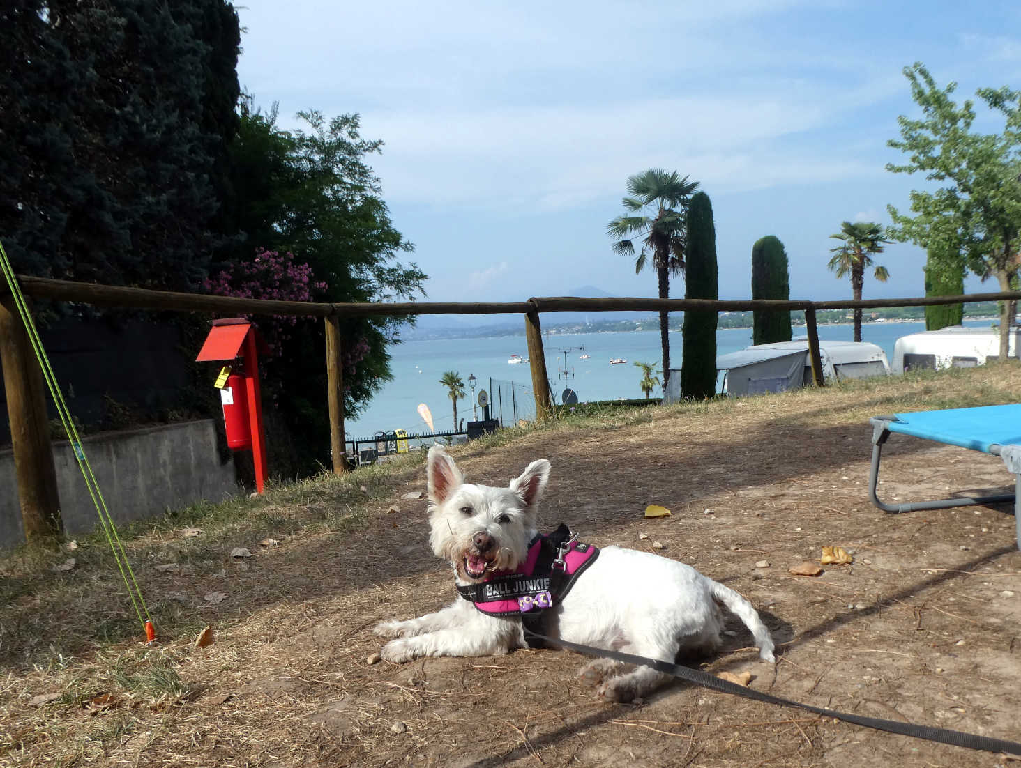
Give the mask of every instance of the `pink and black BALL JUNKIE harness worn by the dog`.
[[[457, 592], [482, 613], [521, 616], [527, 628], [541, 631], [545, 609], [563, 600], [598, 556], [598, 548], [579, 543], [577, 534], [561, 523], [548, 535], [535, 535], [518, 570], [497, 571], [474, 584], [457, 584]], [[538, 648], [541, 642], [529, 639], [529, 646]]]

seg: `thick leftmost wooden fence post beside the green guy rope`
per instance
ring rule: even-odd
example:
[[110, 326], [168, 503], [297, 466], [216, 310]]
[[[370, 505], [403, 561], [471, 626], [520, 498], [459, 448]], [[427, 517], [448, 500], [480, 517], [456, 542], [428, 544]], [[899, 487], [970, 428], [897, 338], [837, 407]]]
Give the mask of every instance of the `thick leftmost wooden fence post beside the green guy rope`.
[[50, 445], [43, 372], [10, 294], [0, 297], [0, 365], [7, 393], [21, 524], [25, 540], [33, 544], [60, 535], [63, 520]]

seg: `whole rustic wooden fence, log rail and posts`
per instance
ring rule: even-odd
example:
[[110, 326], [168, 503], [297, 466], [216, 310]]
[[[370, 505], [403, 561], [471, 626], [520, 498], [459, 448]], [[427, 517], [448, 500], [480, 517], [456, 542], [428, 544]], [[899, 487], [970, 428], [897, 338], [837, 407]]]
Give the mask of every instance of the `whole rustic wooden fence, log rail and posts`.
[[[959, 304], [980, 301], [1016, 301], [1021, 291], [1010, 293], [971, 294], [911, 299], [870, 299], [863, 301], [714, 301], [710, 299], [638, 299], [638, 298], [532, 298], [509, 303], [446, 303], [403, 302], [312, 303], [238, 299], [223, 296], [149, 291], [138, 288], [99, 286], [87, 283], [55, 280], [18, 275], [21, 291], [36, 299], [80, 302], [96, 306], [206, 312], [222, 315], [292, 315], [322, 317], [326, 335], [326, 365], [328, 377], [327, 403], [330, 421], [333, 470], [346, 471], [344, 437], [344, 387], [341, 366], [342, 348], [338, 330], [340, 317], [390, 316], [424, 314], [522, 314], [525, 337], [531, 361], [532, 389], [535, 393], [536, 418], [544, 419], [552, 411], [546, 381], [546, 358], [542, 346], [539, 316], [550, 312], [610, 312], [715, 310], [717, 312], [751, 310], [804, 311], [812, 359], [812, 375], [822, 386], [822, 363], [819, 354], [819, 332], [816, 312], [823, 309], [877, 309], [881, 307], [918, 307], [938, 304]], [[32, 356], [13, 297], [0, 285], [0, 365], [3, 367], [10, 415], [11, 442], [17, 477], [18, 499], [28, 541], [59, 530], [59, 500], [54, 488], [53, 454], [49, 444], [49, 427], [45, 407], [42, 375]]]

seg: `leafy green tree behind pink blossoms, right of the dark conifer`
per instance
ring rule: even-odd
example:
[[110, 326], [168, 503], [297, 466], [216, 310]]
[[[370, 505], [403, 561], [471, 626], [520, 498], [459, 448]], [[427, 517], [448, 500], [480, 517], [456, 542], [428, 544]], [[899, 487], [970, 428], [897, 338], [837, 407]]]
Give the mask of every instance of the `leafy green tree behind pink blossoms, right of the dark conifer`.
[[[231, 147], [230, 210], [234, 237], [218, 254], [218, 269], [250, 262], [264, 249], [293, 254], [308, 264], [318, 301], [375, 302], [424, 294], [425, 273], [400, 261], [414, 249], [396, 229], [367, 158], [382, 142], [362, 139], [356, 114], [327, 119], [300, 115], [304, 127], [283, 131], [277, 110], [262, 112], [250, 96], [241, 101], [238, 138]], [[230, 270], [236, 271], [236, 270]], [[344, 408], [356, 417], [392, 378], [388, 347], [399, 343], [404, 319], [343, 318]], [[313, 471], [329, 457], [329, 426], [322, 417], [326, 354], [322, 324], [300, 321], [268, 362], [265, 381], [279, 388], [279, 420], [297, 436], [297, 471]], [[275, 382], [269, 385], [269, 382]]]

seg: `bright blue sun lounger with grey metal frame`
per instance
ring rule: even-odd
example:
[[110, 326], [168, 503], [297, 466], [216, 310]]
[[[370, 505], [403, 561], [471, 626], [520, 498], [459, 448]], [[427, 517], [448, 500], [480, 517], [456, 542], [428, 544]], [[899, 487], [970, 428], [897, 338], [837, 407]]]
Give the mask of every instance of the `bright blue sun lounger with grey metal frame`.
[[[974, 504], [1014, 502], [1014, 521], [1018, 549], [1021, 550], [1021, 404], [987, 405], [980, 408], [953, 408], [945, 411], [919, 411], [875, 416], [872, 422], [872, 469], [869, 473], [869, 498], [884, 512], [911, 512], [916, 509], [946, 509]], [[879, 483], [879, 458], [890, 432], [910, 434], [949, 446], [999, 456], [1015, 477], [1015, 493], [995, 496], [940, 499], [912, 504], [885, 504], [876, 496]]]

